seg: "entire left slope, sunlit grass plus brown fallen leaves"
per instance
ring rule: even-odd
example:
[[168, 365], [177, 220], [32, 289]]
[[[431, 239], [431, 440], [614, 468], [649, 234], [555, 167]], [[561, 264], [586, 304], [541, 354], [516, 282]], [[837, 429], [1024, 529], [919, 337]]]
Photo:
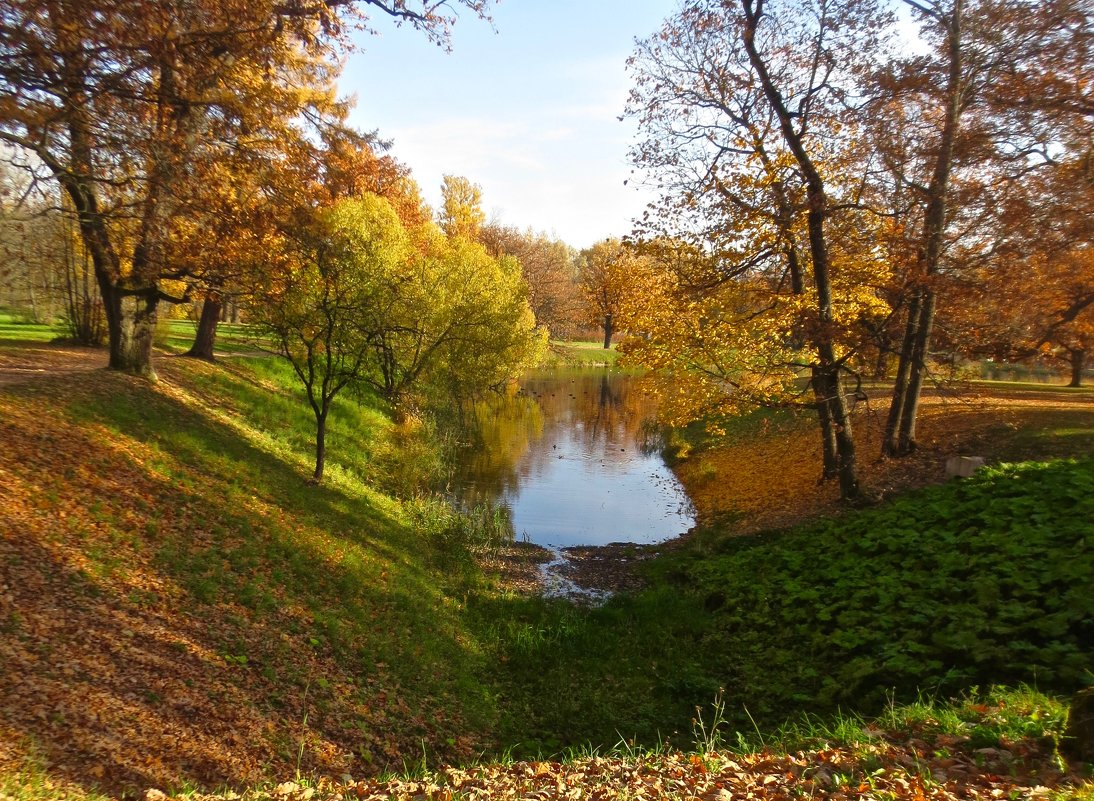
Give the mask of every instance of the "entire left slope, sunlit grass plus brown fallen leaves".
[[430, 446], [346, 398], [306, 486], [283, 364], [158, 371], [0, 390], [0, 770], [143, 792], [477, 753], [466, 553], [391, 495]]

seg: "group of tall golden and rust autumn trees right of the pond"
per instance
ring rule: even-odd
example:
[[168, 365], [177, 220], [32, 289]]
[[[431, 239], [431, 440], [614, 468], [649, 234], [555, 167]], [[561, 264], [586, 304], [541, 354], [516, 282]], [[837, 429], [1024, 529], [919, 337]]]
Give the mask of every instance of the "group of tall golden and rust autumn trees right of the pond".
[[[1076, 170], [1090, 161], [1089, 81], [1079, 77], [1089, 13], [1067, 1], [1036, 13], [905, 5], [919, 28], [915, 53], [894, 46], [908, 33], [873, 2], [742, 0], [680, 9], [629, 62], [628, 114], [641, 132], [632, 160], [661, 195], [637, 234], [661, 249], [668, 287], [635, 329], [636, 360], [675, 390], [666, 399], [677, 422], [811, 406], [822, 475], [838, 475], [848, 498], [858, 491], [848, 411], [861, 373], [884, 376], [895, 362], [882, 451], [908, 455], [940, 346], [986, 352], [973, 326], [952, 323], [998, 318], [1005, 301], [996, 300], [1011, 297], [1017, 272], [1031, 314], [1008, 336], [1025, 350], [1000, 344], [997, 356], [1056, 352], [1075, 383], [1085, 358], [1091, 301], [1074, 274], [1090, 237], [1067, 221], [1090, 187]], [[1049, 77], [1056, 70], [1061, 78]], [[1052, 177], [1061, 173], [1085, 177]], [[1068, 234], [1021, 233], [1035, 216], [1014, 204], [1032, 209], [1034, 195], [1038, 224]], [[1050, 240], [1056, 252], [1035, 256]]]

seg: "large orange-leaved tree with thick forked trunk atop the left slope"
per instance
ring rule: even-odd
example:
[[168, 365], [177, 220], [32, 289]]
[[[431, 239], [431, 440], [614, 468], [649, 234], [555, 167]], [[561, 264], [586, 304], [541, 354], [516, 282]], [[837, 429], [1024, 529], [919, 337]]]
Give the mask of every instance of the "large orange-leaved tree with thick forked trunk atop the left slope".
[[[443, 40], [486, 0], [361, 0]], [[417, 7], [417, 8], [416, 8]], [[112, 368], [152, 374], [170, 229], [195, 154], [249, 148], [271, 120], [321, 119], [341, 2], [14, 0], [0, 11], [0, 140], [69, 196], [91, 255]]]

